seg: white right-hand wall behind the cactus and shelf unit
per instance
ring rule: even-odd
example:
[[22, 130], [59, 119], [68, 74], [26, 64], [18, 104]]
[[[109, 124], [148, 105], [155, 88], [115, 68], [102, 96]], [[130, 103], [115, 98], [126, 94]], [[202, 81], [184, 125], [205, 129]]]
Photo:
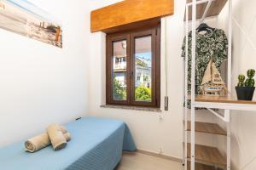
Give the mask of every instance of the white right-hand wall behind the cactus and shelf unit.
[[[236, 86], [239, 74], [246, 74], [246, 71], [251, 68], [256, 69], [255, 6], [254, 0], [233, 0], [233, 87]], [[224, 8], [218, 19], [219, 26], [227, 30], [228, 6]], [[235, 89], [232, 94], [236, 95]], [[256, 99], [256, 94], [253, 99]], [[256, 167], [255, 111], [232, 111], [231, 113], [232, 169], [254, 170]], [[222, 139], [218, 140], [219, 145], [225, 145], [224, 142]]]

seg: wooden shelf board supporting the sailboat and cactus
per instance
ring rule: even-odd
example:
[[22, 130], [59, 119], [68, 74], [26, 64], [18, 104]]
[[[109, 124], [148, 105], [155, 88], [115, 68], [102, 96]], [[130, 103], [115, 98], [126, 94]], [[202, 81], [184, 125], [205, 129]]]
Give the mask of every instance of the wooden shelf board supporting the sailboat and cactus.
[[212, 103], [228, 103], [228, 104], [247, 104], [256, 105], [256, 101], [238, 100], [233, 97], [213, 96], [213, 95], [196, 95], [195, 102], [212, 102]]

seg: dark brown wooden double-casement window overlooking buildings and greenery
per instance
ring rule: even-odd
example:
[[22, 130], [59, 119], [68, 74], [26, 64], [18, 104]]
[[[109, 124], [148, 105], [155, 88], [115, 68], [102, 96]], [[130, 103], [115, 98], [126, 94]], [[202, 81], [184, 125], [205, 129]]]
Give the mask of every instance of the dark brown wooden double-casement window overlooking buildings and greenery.
[[160, 25], [107, 35], [107, 104], [160, 107]]

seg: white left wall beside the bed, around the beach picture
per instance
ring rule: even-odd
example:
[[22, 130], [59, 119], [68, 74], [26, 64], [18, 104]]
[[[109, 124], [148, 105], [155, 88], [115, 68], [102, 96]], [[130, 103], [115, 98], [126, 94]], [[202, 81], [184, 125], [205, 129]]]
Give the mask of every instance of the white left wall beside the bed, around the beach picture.
[[0, 29], [0, 147], [88, 112], [90, 1], [30, 0], [62, 21], [63, 48]]

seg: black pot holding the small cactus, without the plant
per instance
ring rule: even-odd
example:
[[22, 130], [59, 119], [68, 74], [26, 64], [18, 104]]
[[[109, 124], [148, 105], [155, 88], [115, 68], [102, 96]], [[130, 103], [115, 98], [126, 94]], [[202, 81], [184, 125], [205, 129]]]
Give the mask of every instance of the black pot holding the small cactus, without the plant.
[[236, 87], [237, 99], [252, 100], [255, 87]]

